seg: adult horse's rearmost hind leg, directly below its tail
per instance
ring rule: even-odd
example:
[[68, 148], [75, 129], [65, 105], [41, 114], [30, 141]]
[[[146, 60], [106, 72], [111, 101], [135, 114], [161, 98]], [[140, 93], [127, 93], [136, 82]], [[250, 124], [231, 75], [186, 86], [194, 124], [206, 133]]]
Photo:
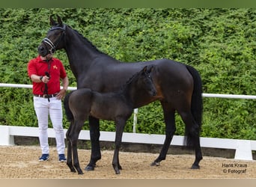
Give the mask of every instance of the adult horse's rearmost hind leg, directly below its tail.
[[195, 149], [195, 162], [192, 164], [191, 168], [199, 169], [199, 162], [203, 159], [199, 137], [200, 128], [195, 122], [190, 110], [186, 112], [179, 112], [179, 114], [182, 117], [183, 122], [186, 124], [186, 145]]

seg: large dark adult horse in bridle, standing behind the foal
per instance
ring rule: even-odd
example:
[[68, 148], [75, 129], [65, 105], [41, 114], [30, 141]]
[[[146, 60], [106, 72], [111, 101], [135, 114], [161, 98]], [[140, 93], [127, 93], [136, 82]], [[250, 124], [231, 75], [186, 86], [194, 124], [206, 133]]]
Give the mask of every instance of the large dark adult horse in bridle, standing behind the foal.
[[[65, 25], [58, 16], [55, 22], [50, 16], [50, 25], [46, 38], [38, 47], [40, 55], [64, 49], [70, 62], [70, 68], [76, 77], [77, 88], [91, 88], [99, 92], [117, 91], [121, 85], [142, 69], [145, 65], [156, 68], [153, 82], [156, 96], [144, 96], [135, 105], [141, 107], [159, 100], [165, 120], [165, 141], [159, 156], [151, 165], [159, 165], [165, 159], [171, 139], [176, 130], [174, 114], [177, 111], [185, 123], [186, 144], [195, 150], [195, 162], [192, 168], [199, 168], [202, 159], [199, 132], [202, 118], [201, 77], [195, 68], [177, 61], [160, 59], [124, 63], [100, 52], [89, 40]], [[49, 43], [50, 41], [50, 43]], [[85, 170], [92, 171], [101, 159], [100, 123], [97, 117], [89, 117], [91, 138], [91, 160]]]

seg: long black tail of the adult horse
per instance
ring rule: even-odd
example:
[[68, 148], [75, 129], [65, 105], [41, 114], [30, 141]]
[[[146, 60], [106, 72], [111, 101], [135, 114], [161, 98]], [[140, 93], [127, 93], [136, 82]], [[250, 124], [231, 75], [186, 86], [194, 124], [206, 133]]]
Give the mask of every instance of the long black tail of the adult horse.
[[[198, 126], [195, 126], [195, 129], [192, 129], [189, 132], [188, 129], [186, 129], [186, 145], [187, 146], [193, 146], [195, 140], [195, 136], [199, 136], [199, 132], [201, 131], [201, 125], [202, 125], [202, 113], [203, 113], [203, 98], [202, 98], [202, 82], [201, 82], [201, 76], [198, 73], [197, 70], [195, 70], [194, 67], [191, 67], [189, 65], [186, 65], [186, 69], [189, 70], [189, 73], [192, 75], [192, 78], [194, 80], [194, 89], [192, 93], [192, 100], [191, 100], [191, 112], [193, 115], [193, 118], [195, 120], [195, 123]], [[195, 131], [194, 131], [195, 130]]]

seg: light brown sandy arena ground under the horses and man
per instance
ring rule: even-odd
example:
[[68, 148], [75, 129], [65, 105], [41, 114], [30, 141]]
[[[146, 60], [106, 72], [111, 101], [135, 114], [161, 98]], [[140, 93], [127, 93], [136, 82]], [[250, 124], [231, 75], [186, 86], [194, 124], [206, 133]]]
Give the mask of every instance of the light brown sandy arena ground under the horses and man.
[[[222, 159], [204, 156], [200, 170], [191, 170], [192, 155], [168, 155], [159, 167], [150, 163], [158, 156], [155, 153], [120, 152], [123, 170], [116, 175], [112, 168], [113, 151], [103, 150], [102, 159], [95, 171], [83, 175], [71, 173], [66, 163], [58, 162], [55, 147], [50, 148], [50, 159], [38, 162], [39, 146], [0, 146], [0, 178], [13, 179], [219, 179], [256, 178], [256, 162]], [[91, 156], [90, 150], [79, 150], [81, 168], [84, 169]]]

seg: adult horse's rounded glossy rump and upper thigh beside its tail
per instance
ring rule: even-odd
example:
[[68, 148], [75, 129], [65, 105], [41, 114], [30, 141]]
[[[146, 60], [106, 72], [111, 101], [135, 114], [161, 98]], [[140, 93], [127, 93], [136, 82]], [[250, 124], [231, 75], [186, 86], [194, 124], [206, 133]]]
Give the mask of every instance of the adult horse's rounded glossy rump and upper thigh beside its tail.
[[160, 99], [171, 102], [175, 108], [175, 103], [190, 102], [194, 80], [185, 64], [168, 59], [156, 61], [153, 80]]

